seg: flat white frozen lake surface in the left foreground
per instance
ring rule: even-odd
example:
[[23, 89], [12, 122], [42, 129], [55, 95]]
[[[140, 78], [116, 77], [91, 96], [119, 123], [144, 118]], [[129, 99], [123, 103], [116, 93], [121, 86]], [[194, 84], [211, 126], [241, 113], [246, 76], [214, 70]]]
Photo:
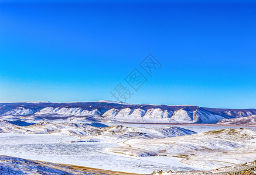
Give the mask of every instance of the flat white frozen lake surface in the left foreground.
[[0, 155], [131, 173], [152, 173], [159, 169], [189, 169], [188, 165], [179, 163], [179, 159], [175, 157], [133, 157], [103, 150], [115, 144], [66, 143], [76, 139], [63, 135], [1, 133]]

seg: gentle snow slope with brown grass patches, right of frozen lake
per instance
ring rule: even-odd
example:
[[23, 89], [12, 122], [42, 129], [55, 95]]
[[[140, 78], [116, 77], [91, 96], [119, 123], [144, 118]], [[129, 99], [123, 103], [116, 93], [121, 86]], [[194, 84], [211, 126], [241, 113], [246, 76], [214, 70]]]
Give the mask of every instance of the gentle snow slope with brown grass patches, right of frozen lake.
[[251, 162], [256, 157], [256, 130], [219, 129], [163, 139], [130, 139], [110, 152], [131, 156], [175, 156], [182, 163], [219, 168]]

